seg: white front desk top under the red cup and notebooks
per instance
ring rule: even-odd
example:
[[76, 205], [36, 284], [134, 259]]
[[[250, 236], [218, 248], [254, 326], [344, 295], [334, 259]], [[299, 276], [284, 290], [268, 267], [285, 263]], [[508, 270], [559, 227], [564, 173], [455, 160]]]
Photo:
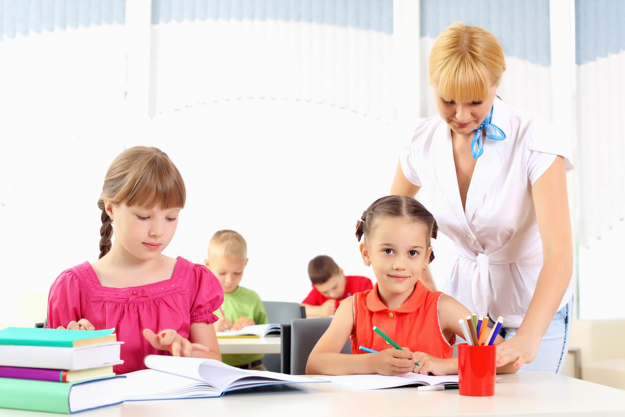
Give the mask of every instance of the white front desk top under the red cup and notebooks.
[[[414, 387], [344, 391], [328, 383], [229, 393], [222, 398], [131, 401], [80, 413], [84, 417], [172, 416], [625, 416], [625, 391], [546, 372], [501, 375], [492, 397]], [[0, 409], [2, 417], [43, 417]]]

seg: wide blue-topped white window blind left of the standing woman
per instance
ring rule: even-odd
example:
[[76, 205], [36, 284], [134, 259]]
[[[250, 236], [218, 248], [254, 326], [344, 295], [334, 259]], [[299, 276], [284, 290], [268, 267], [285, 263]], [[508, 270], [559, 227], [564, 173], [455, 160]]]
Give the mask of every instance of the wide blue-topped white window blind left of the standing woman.
[[152, 8], [157, 111], [279, 98], [395, 117], [392, 0], [154, 0]]

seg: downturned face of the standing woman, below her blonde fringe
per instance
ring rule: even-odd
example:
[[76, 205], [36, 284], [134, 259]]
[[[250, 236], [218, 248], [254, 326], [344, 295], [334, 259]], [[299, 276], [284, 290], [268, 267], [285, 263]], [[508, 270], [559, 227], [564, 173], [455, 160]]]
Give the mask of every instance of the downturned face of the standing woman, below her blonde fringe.
[[435, 85], [434, 100], [438, 114], [451, 130], [457, 135], [469, 135], [491, 112], [496, 90], [495, 86], [491, 86], [486, 97], [476, 97], [467, 103], [456, 103], [451, 98], [442, 98], [438, 86]]

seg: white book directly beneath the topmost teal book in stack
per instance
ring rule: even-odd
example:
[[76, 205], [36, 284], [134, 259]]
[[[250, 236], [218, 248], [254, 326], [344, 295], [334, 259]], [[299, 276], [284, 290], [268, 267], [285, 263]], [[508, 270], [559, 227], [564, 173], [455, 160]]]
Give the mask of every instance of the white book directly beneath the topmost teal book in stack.
[[124, 363], [119, 360], [122, 343], [108, 342], [78, 348], [2, 344], [0, 345], [0, 366], [75, 371], [117, 365]]

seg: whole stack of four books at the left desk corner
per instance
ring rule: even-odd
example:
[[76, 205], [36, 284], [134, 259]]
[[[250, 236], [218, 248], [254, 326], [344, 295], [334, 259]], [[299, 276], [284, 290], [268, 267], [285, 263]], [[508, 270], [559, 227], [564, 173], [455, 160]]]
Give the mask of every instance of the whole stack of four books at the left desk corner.
[[0, 330], [0, 408], [69, 414], [121, 403], [114, 330]]

